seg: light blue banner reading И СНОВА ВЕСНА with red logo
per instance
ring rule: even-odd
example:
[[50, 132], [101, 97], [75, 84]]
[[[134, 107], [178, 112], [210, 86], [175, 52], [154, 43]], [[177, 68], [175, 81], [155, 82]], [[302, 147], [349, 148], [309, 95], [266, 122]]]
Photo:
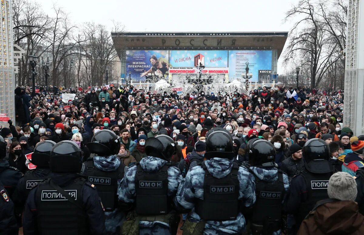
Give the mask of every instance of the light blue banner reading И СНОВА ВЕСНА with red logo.
[[171, 50], [170, 67], [227, 67], [227, 50]]

